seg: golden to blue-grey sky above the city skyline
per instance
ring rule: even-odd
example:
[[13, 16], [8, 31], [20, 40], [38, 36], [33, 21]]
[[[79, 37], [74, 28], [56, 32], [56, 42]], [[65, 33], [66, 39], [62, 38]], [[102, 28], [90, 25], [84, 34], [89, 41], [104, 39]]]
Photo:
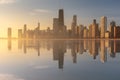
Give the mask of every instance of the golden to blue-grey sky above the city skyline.
[[7, 28], [12, 28], [13, 37], [17, 30], [27, 24], [34, 29], [41, 23], [41, 29], [52, 29], [53, 18], [63, 8], [65, 25], [70, 28], [72, 16], [77, 15], [78, 25], [88, 26], [93, 19], [99, 23], [101, 16], [107, 16], [120, 25], [120, 0], [0, 0], [0, 37], [7, 37]]

